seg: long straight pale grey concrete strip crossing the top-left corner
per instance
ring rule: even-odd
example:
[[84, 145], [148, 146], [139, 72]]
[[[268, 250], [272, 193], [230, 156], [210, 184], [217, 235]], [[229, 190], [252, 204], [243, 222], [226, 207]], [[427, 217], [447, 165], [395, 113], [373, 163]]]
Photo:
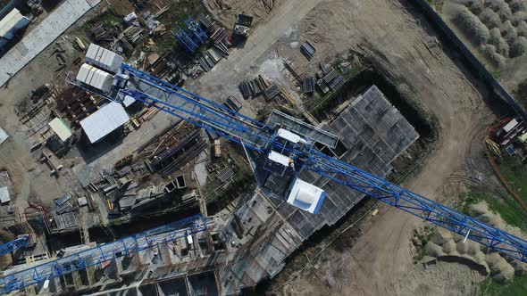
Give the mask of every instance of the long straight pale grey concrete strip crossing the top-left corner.
[[[66, 0], [0, 59], [0, 86], [70, 28], [100, 0]], [[10, 73], [10, 74], [8, 74]]]

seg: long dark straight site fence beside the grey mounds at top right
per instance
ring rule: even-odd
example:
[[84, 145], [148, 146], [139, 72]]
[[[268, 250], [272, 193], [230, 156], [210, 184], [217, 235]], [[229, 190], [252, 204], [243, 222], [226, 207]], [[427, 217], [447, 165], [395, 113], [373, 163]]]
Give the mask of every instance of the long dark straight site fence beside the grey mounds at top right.
[[523, 107], [514, 100], [514, 98], [508, 94], [506, 89], [501, 86], [490, 74], [483, 64], [471, 53], [471, 51], [464, 45], [464, 43], [456, 36], [454, 31], [448, 27], [448, 25], [443, 21], [439, 14], [431, 7], [426, 0], [411, 0], [411, 3], [415, 4], [418, 8], [421, 9], [423, 14], [431, 21], [432, 25], [439, 29], [441, 37], [446, 37], [448, 42], [451, 45], [454, 45], [455, 49], [461, 53], [469, 69], [473, 70], [473, 73], [477, 78], [481, 78], [491, 90], [501, 97], [505, 103], [512, 108], [517, 115], [521, 116], [524, 120], [527, 119], [527, 112]]

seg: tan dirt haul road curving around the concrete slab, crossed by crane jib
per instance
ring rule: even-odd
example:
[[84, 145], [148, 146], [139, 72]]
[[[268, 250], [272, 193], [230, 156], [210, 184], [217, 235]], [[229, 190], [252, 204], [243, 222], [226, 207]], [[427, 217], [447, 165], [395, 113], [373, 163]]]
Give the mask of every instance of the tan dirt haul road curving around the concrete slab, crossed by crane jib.
[[[225, 92], [226, 87], [234, 92], [228, 78], [259, 69], [258, 59], [271, 58], [263, 55], [270, 54], [266, 48], [272, 39], [291, 41], [288, 29], [298, 29], [297, 41], [314, 42], [316, 59], [350, 49], [370, 54], [391, 76], [411, 86], [436, 113], [442, 128], [441, 139], [421, 173], [407, 182], [406, 187], [449, 204], [455, 200], [451, 193], [456, 193], [452, 189], [456, 185], [447, 182], [447, 178], [464, 169], [474, 172], [484, 169], [479, 167], [485, 165], [481, 159], [481, 139], [484, 127], [494, 115], [483, 100], [487, 94], [481, 91], [482, 87], [434, 41], [435, 33], [422, 16], [413, 12], [405, 1], [397, 0], [289, 1], [280, 6], [272, 19], [255, 29], [247, 41], [249, 48], [231, 54], [229, 60], [201, 78], [202, 85], [197, 87], [210, 94]], [[289, 50], [297, 45], [289, 44]], [[420, 222], [399, 210], [383, 208], [381, 217], [364, 228], [364, 235], [352, 249], [336, 257], [328, 255], [313, 275], [300, 276], [280, 292], [443, 295], [450, 291], [446, 287], [452, 284], [449, 280], [452, 276], [423, 277], [412, 262], [410, 238]], [[445, 267], [445, 275], [456, 268]], [[462, 269], [456, 271], [456, 278], [472, 283], [472, 273]], [[331, 280], [324, 275], [330, 275]], [[451, 291], [464, 291], [460, 289], [463, 287], [456, 285]]]

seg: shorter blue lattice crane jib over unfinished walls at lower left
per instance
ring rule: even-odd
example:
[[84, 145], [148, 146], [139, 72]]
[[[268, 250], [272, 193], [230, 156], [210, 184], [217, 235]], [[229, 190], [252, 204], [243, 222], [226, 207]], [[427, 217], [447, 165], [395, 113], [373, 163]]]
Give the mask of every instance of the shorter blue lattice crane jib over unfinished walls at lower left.
[[48, 279], [68, 275], [112, 259], [150, 249], [162, 243], [173, 242], [188, 234], [197, 234], [206, 229], [206, 219], [203, 216], [191, 216], [165, 226], [121, 238], [113, 243], [101, 244], [93, 249], [80, 251], [61, 259], [0, 277], [0, 293], [8, 294]]

